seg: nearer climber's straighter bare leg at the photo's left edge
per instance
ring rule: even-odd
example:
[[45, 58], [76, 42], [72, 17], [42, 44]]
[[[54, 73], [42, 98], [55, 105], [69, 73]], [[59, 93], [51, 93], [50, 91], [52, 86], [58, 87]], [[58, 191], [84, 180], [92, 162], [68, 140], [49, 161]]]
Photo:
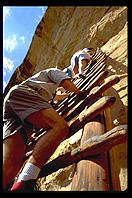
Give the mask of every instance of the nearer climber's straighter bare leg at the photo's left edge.
[[3, 141], [3, 189], [12, 182], [23, 165], [25, 145], [20, 132]]

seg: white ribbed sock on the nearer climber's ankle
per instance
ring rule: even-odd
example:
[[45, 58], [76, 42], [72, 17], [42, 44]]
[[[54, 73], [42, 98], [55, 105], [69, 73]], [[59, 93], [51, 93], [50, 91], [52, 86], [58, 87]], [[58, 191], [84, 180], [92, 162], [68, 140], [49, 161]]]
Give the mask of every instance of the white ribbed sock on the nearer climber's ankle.
[[22, 172], [20, 173], [17, 182], [37, 179], [39, 172], [40, 168], [30, 162], [27, 162]]

